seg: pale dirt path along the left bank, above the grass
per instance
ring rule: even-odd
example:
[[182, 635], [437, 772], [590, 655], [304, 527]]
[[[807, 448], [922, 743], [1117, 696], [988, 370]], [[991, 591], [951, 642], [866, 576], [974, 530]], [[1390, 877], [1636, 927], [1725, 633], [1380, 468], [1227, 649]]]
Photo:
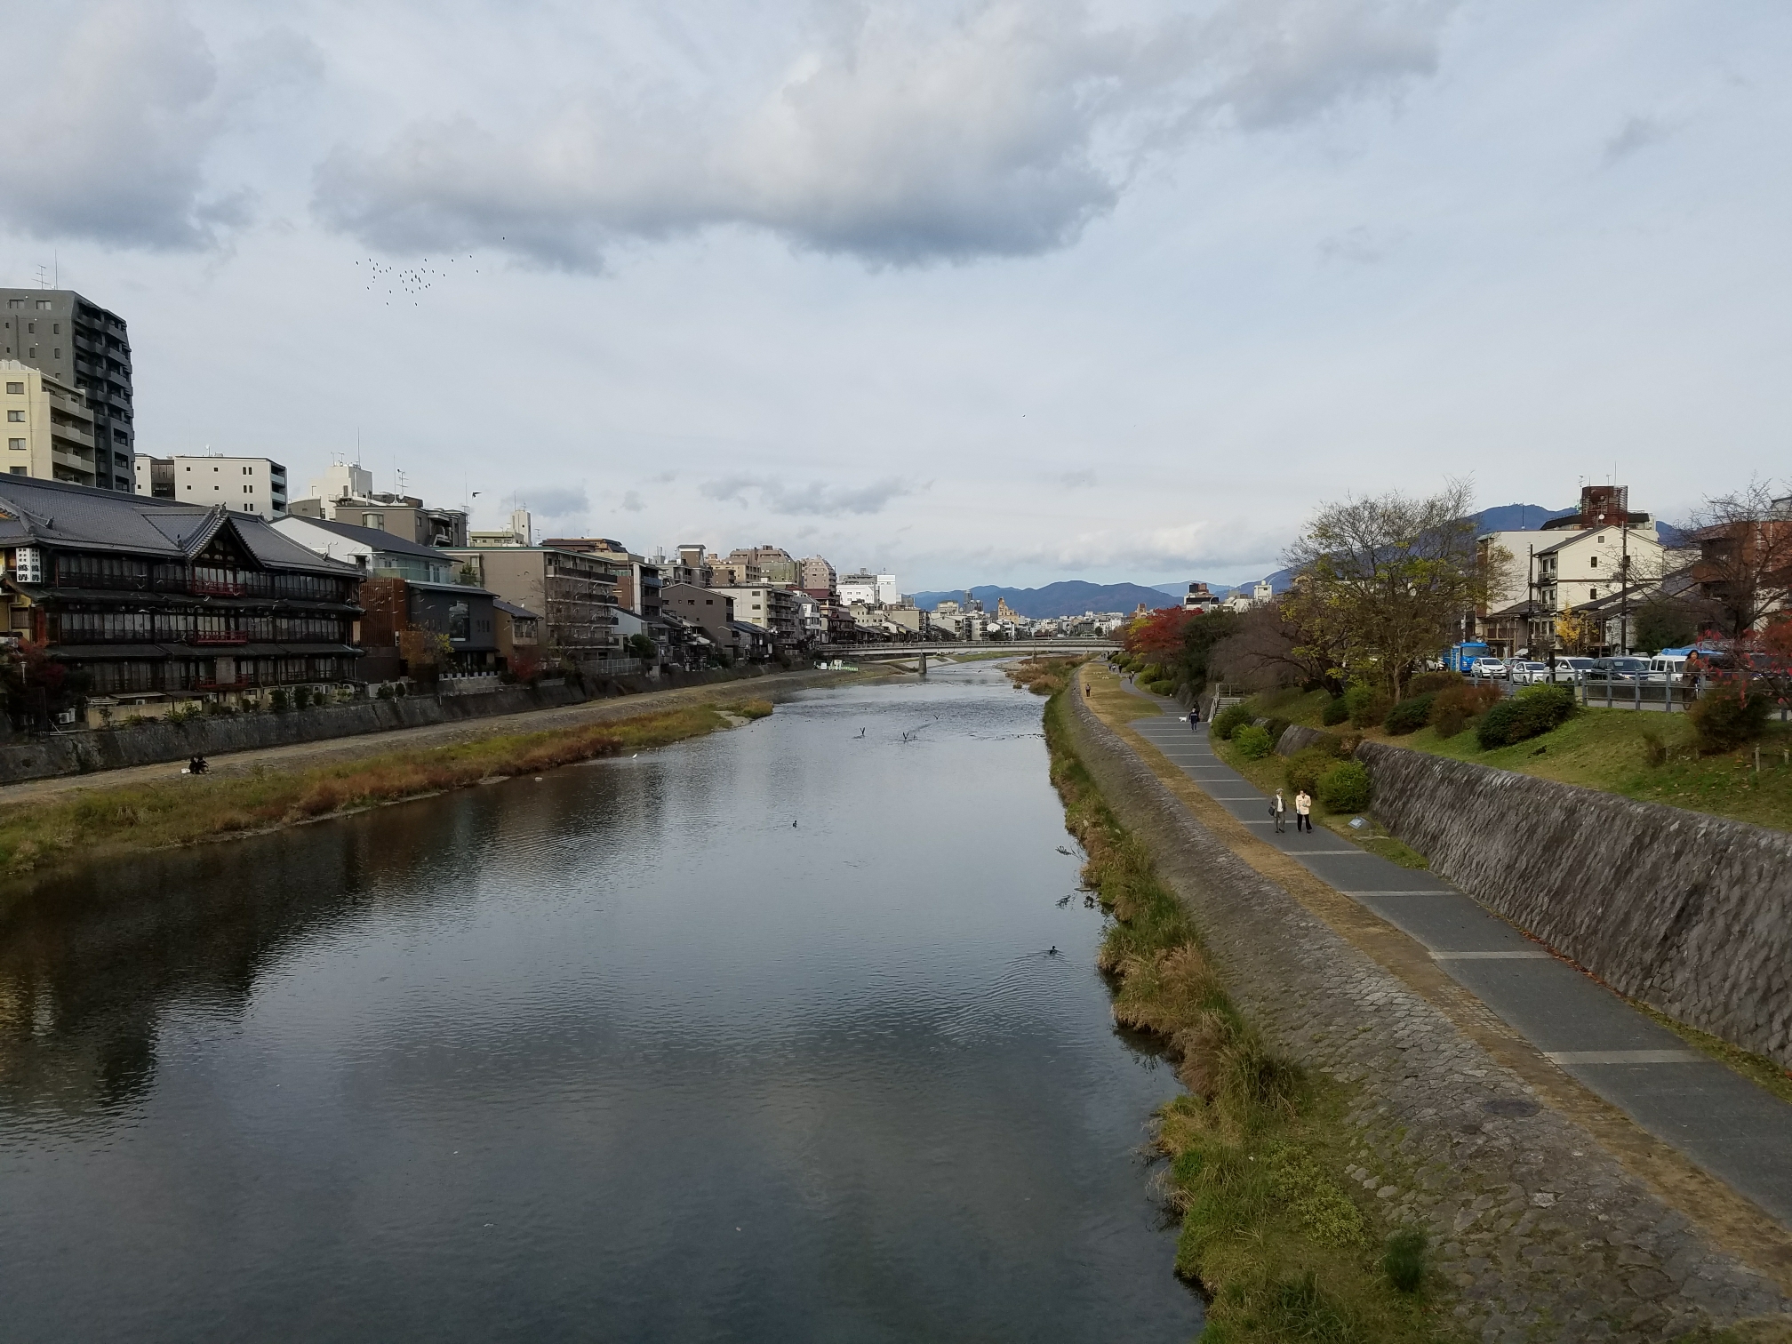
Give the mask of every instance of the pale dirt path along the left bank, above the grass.
[[[392, 728], [383, 733], [358, 733], [353, 737], [330, 737], [315, 742], [290, 742], [281, 747], [254, 747], [249, 751], [219, 753], [206, 758], [210, 776], [254, 774], [258, 769], [308, 771], [314, 765], [332, 765], [357, 760], [360, 756], [378, 756], [387, 751], [412, 751], [416, 747], [446, 747], [457, 742], [478, 742], [489, 737], [513, 737], [518, 733], [541, 733], [554, 728], [582, 728], [613, 719], [634, 719], [643, 713], [665, 710], [686, 710], [697, 704], [719, 704], [728, 701], [771, 699], [776, 701], [808, 686], [840, 683], [851, 672], [772, 672], [762, 677], [740, 677], [735, 681], [711, 681], [701, 686], [679, 686], [676, 690], [649, 690], [638, 695], [618, 695], [581, 704], [563, 704], [554, 710], [523, 710], [521, 713], [493, 715], [491, 719], [462, 719], [452, 724], [430, 724], [425, 728]], [[873, 672], [871, 676], [878, 676]], [[124, 785], [154, 783], [183, 778], [181, 762], [158, 762], [154, 765], [127, 765], [116, 771], [95, 771], [91, 774], [59, 774], [48, 780], [23, 780], [20, 783], [0, 785], [0, 808], [9, 803], [34, 803], [45, 797], [59, 797], [90, 788], [116, 788]]]

